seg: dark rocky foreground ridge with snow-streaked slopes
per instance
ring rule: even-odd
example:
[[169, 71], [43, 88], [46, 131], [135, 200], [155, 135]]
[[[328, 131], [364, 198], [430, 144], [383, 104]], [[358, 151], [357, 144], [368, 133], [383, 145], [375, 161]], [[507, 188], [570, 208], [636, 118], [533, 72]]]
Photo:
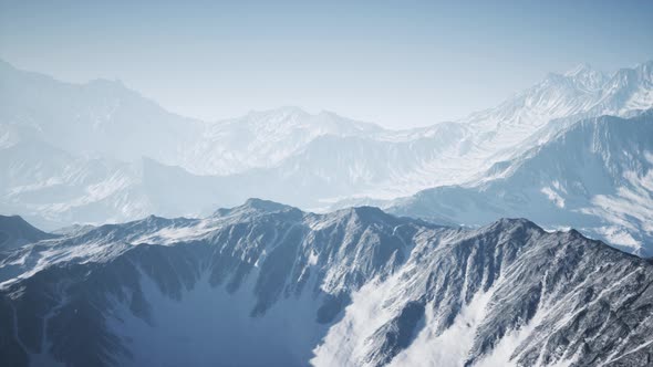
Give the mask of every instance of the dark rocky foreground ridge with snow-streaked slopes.
[[71, 231], [0, 269], [7, 366], [653, 358], [653, 264], [522, 219], [465, 230], [253, 199], [205, 219]]

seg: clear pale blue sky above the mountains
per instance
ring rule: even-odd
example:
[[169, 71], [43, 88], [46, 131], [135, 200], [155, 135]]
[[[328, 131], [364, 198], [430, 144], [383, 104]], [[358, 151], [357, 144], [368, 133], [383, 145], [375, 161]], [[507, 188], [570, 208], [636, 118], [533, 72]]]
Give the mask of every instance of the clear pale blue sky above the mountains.
[[7, 1], [0, 57], [204, 119], [284, 105], [402, 128], [587, 62], [653, 59], [653, 1]]

